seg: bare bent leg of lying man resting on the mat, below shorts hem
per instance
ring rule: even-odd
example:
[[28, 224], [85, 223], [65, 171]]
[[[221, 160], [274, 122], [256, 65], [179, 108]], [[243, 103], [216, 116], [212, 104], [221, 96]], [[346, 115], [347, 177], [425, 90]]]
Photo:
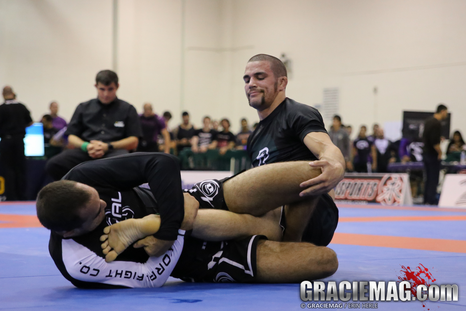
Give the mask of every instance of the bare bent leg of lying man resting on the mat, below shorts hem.
[[331, 276], [338, 269], [332, 249], [310, 243], [257, 243], [257, 283], [300, 283]]

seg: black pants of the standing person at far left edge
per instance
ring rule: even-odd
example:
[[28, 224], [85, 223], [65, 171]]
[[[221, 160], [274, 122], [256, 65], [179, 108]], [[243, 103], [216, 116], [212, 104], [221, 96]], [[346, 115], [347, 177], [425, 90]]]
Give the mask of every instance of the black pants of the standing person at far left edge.
[[5, 177], [5, 196], [9, 201], [25, 200], [26, 157], [23, 138], [0, 140], [0, 164]]

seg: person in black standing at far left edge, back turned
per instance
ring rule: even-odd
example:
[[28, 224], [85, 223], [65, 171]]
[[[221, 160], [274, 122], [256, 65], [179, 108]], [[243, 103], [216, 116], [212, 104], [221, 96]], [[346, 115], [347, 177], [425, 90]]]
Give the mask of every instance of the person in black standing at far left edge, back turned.
[[0, 105], [0, 165], [5, 177], [7, 200], [25, 200], [26, 157], [24, 141], [26, 127], [33, 122], [26, 106], [16, 101], [11, 86], [3, 88], [5, 102]]

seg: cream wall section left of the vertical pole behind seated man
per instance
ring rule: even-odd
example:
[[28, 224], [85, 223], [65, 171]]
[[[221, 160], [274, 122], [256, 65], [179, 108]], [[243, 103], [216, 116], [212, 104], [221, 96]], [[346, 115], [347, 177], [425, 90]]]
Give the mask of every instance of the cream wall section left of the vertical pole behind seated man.
[[52, 100], [68, 120], [111, 65], [111, 0], [0, 0], [0, 86], [34, 120]]

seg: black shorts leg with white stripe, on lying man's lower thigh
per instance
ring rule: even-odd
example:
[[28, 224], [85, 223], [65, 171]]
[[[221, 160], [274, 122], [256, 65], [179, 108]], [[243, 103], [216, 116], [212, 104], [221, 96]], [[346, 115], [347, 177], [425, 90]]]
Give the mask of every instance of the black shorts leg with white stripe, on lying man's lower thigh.
[[207, 242], [186, 236], [171, 276], [185, 282], [254, 283], [257, 242], [262, 239], [267, 237], [252, 235], [241, 240]]

